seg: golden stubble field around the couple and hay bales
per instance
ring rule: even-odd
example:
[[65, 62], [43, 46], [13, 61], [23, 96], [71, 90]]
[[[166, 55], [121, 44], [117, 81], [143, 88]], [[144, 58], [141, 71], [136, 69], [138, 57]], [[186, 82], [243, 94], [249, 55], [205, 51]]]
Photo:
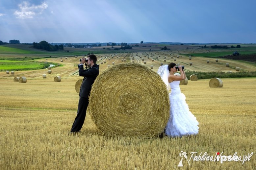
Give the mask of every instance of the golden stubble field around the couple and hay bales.
[[[99, 56], [100, 73], [112, 62], [121, 63], [127, 54], [122, 55], [119, 54], [118, 59], [114, 54], [113, 58], [112, 55]], [[140, 55], [147, 61], [147, 66], [154, 66], [154, 71], [163, 61], [162, 56], [160, 61], [155, 58], [152, 62], [151, 54], [136, 56], [133, 53], [126, 56], [126, 62], [133, 61], [134, 56], [136, 63], [143, 64]], [[149, 59], [145, 57], [147, 55]], [[188, 57], [180, 59], [177, 59], [180, 63], [189, 62]], [[48, 60], [56, 62], [60, 58]], [[190, 152], [198, 152], [198, 155], [207, 152], [213, 157], [217, 152], [226, 156], [237, 152], [243, 158], [256, 149], [256, 78], [225, 78], [222, 88], [210, 88], [209, 79], [181, 85], [187, 104], [199, 122], [196, 136], [108, 137], [97, 129], [90, 113], [87, 113], [81, 133], [69, 136], [79, 99], [74, 86], [81, 77], [75, 64], [78, 58], [63, 60], [64, 66], [53, 68], [52, 74], [47, 74], [47, 69], [16, 71], [14, 75], [0, 72], [1, 169], [181, 169], [177, 167], [181, 160], [180, 151], [187, 152], [188, 159]], [[172, 59], [167, 57], [164, 64], [170, 61]], [[239, 62], [234, 63], [237, 64]], [[211, 69], [222, 67], [214, 61], [212, 66]], [[195, 65], [185, 68], [197, 69]], [[248, 64], [244, 69], [254, 70], [255, 67]], [[47, 78], [42, 79], [42, 74], [47, 74]], [[62, 77], [61, 82], [53, 81], [57, 75]], [[13, 82], [14, 76], [26, 76], [27, 83]], [[190, 165], [183, 159], [183, 165], [182, 169], [254, 169], [256, 159], [255, 154], [244, 163], [191, 159]]]

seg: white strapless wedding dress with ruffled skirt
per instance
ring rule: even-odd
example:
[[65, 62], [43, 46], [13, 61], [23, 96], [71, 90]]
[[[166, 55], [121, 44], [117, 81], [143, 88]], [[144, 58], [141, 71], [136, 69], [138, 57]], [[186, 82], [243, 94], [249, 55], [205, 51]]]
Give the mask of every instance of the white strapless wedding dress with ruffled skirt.
[[171, 93], [170, 99], [170, 117], [166, 125], [165, 134], [167, 136], [184, 136], [195, 135], [198, 133], [199, 127], [195, 116], [189, 111], [186, 103], [186, 97], [180, 91], [180, 81], [169, 83]]

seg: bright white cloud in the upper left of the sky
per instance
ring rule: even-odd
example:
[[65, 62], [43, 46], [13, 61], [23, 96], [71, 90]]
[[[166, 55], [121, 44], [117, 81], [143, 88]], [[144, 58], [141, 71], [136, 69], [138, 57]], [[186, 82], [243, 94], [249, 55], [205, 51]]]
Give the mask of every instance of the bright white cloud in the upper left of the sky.
[[28, 2], [23, 2], [18, 5], [20, 10], [16, 10], [13, 14], [17, 15], [17, 18], [33, 18], [33, 16], [41, 14], [44, 9], [48, 7], [46, 2], [40, 5], [30, 5]]

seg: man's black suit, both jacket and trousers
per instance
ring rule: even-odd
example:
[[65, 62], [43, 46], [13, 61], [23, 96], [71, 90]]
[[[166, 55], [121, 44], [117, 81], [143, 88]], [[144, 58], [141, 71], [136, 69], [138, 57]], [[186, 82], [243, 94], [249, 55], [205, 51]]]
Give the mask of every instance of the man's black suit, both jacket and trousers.
[[99, 65], [94, 64], [89, 69], [84, 70], [84, 65], [78, 66], [79, 76], [83, 76], [83, 82], [80, 87], [79, 92], [79, 102], [77, 109], [77, 116], [71, 128], [72, 132], [80, 132], [86, 116], [86, 110], [89, 104], [89, 96], [91, 91], [91, 86], [99, 75]]

